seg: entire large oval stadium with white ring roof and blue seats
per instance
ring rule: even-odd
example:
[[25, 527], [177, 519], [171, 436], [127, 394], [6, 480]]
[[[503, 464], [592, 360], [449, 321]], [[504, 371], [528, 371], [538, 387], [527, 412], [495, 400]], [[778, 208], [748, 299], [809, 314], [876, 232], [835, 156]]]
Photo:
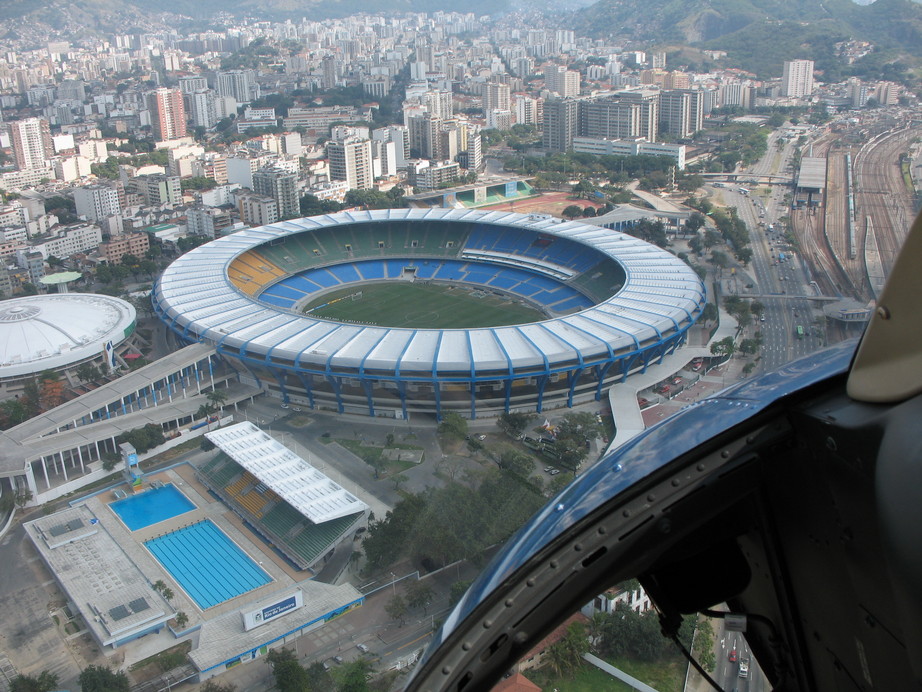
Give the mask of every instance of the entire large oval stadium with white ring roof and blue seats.
[[183, 340], [285, 403], [475, 418], [600, 399], [685, 342], [705, 287], [598, 226], [389, 209], [219, 238], [170, 265], [152, 299]]

